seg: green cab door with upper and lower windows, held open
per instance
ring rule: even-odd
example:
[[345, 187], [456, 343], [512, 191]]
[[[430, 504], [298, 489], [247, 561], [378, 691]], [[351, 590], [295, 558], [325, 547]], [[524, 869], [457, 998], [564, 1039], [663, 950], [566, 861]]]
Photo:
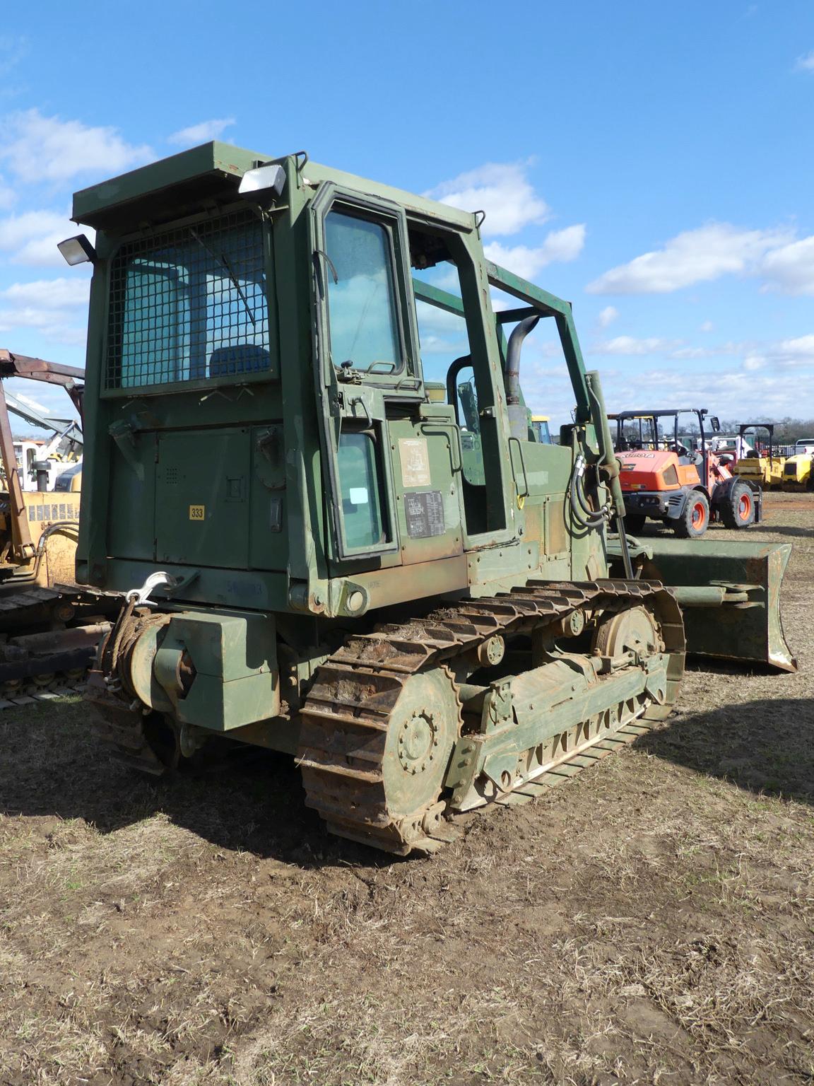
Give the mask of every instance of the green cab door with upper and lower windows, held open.
[[425, 402], [404, 212], [323, 182], [310, 228], [331, 572], [460, 554], [459, 437]]

